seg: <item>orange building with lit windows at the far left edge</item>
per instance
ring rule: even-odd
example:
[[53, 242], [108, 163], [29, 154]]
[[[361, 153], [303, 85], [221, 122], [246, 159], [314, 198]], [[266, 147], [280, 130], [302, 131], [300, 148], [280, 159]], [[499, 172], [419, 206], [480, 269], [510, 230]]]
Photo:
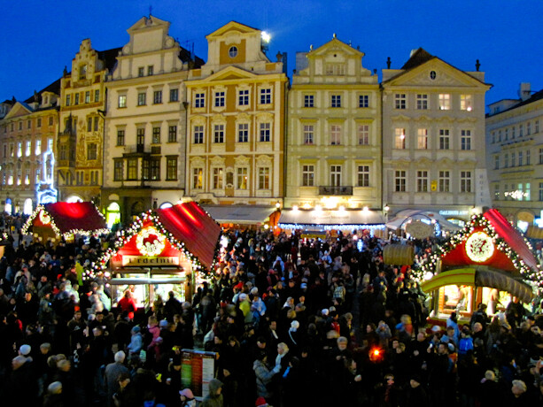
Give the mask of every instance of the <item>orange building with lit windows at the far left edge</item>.
[[0, 208], [31, 214], [38, 204], [57, 201], [54, 183], [58, 95], [55, 81], [24, 102], [10, 101], [0, 119]]

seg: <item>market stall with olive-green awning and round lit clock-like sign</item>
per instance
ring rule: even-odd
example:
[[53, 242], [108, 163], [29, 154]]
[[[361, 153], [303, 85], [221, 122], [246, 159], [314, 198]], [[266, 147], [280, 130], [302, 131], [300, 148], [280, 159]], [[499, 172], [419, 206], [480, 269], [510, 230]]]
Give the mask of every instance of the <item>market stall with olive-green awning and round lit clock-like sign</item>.
[[499, 211], [475, 215], [469, 224], [440, 245], [415, 277], [431, 295], [431, 319], [447, 319], [453, 311], [469, 319], [478, 303], [493, 315], [513, 297], [530, 303], [543, 273], [529, 243]]

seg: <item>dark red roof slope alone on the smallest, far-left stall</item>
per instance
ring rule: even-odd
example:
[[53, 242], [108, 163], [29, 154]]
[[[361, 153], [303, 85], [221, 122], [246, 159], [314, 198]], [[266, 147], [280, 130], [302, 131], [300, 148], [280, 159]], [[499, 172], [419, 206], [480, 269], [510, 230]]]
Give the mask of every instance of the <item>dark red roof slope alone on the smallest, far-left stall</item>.
[[105, 229], [105, 219], [91, 202], [57, 202], [44, 204], [45, 211], [50, 214], [61, 234], [72, 230], [92, 232]]

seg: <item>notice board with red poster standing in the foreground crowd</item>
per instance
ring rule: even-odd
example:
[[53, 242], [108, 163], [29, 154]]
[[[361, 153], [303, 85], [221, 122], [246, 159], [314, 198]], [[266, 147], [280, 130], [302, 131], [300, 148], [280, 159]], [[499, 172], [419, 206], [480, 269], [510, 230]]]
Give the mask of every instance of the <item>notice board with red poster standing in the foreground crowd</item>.
[[182, 349], [182, 388], [190, 388], [192, 394], [201, 400], [209, 393], [209, 381], [215, 372], [215, 352]]

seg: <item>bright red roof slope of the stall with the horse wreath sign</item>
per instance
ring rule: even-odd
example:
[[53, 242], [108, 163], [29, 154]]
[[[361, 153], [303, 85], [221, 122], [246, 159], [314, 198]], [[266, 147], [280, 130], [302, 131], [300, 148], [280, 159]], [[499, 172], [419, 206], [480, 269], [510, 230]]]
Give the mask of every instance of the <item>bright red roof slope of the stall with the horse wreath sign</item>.
[[189, 202], [170, 208], [155, 210], [160, 223], [175, 239], [207, 268], [213, 265], [213, 257], [221, 227], [198, 204]]

